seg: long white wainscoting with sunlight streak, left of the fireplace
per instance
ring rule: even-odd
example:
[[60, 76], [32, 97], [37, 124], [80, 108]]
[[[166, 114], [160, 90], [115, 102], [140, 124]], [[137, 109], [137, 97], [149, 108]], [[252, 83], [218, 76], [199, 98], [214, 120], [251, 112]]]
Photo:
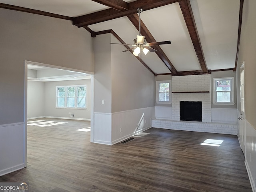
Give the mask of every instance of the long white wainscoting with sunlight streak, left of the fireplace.
[[154, 117], [155, 107], [112, 113], [112, 144], [151, 128], [151, 119]]

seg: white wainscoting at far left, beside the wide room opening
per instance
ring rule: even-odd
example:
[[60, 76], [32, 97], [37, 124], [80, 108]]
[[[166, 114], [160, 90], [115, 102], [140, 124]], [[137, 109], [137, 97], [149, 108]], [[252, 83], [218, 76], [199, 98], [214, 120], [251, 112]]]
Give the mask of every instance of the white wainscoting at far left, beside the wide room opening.
[[0, 176], [25, 167], [24, 122], [0, 125]]

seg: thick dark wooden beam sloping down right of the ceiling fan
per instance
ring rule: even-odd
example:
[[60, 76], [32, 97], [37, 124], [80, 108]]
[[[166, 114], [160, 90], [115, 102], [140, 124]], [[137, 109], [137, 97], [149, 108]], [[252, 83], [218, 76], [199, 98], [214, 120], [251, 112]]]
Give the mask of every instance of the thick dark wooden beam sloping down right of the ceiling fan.
[[179, 1], [180, 9], [182, 11], [184, 20], [186, 22], [186, 26], [188, 28], [188, 32], [190, 34], [190, 38], [192, 40], [194, 49], [196, 51], [196, 55], [201, 66], [201, 69], [204, 74], [208, 74], [208, 69], [206, 66], [206, 61], [204, 59], [204, 52], [201, 46], [200, 38], [197, 32], [196, 23], [194, 20], [192, 8], [189, 0], [181, 0]]

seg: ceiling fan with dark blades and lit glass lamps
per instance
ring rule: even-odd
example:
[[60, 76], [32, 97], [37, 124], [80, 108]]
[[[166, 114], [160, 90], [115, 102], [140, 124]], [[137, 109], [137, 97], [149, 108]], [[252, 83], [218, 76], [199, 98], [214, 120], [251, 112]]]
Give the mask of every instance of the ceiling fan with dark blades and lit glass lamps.
[[[121, 44], [121, 43], [110, 43], [110, 44], [119, 44], [119, 45], [130, 45], [134, 46], [132, 48], [126, 49], [122, 52], [134, 50], [133, 54], [135, 56], [138, 56], [141, 52], [143, 52], [145, 55], [150, 51], [150, 52], [155, 52], [156, 49], [151, 48], [150, 46], [154, 45], [163, 45], [163, 44], [171, 44], [171, 41], [161, 41], [161, 42], [151, 42], [151, 43], [146, 43], [145, 36], [142, 36], [140, 34], [140, 13], [142, 12], [142, 8], [138, 8], [138, 14], [139, 14], [139, 34], [137, 35], [137, 38], [133, 40], [134, 44]], [[141, 57], [140, 57], [141, 58]]]

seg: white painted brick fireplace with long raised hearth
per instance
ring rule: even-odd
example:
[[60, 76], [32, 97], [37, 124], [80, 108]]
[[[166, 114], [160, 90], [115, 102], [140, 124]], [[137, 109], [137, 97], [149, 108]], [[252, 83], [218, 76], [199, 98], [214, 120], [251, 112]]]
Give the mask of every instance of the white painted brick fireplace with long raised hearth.
[[[186, 130], [198, 132], [211, 132], [222, 134], [237, 134], [237, 124], [212, 122], [211, 108], [211, 75], [172, 76], [172, 107], [158, 108], [158, 116], [152, 120], [152, 127]], [[202, 122], [180, 120], [180, 102], [202, 102]], [[159, 110], [162, 110], [162, 118], [159, 118]], [[230, 110], [215, 109], [220, 114]], [[222, 112], [223, 111], [223, 112]], [[170, 116], [168, 116], [170, 114]], [[165, 117], [163, 117], [165, 116]], [[158, 117], [158, 118], [157, 118]]]

